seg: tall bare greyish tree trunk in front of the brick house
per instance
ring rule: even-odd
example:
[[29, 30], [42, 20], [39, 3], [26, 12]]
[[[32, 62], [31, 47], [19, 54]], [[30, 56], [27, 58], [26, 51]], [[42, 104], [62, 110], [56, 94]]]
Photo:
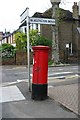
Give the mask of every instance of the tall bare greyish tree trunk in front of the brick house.
[[59, 8], [61, 0], [50, 0], [52, 4], [52, 18], [55, 18], [55, 26], [52, 26], [52, 59], [55, 63], [59, 62], [59, 46], [58, 46], [58, 20], [56, 9]]

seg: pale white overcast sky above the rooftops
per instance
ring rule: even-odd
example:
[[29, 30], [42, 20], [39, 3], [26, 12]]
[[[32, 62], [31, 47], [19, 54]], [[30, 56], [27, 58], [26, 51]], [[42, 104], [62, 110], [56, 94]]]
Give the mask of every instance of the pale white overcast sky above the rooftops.
[[[72, 11], [74, 2], [80, 0], [61, 0], [60, 7]], [[10, 31], [18, 29], [20, 26], [20, 15], [29, 7], [29, 16], [35, 12], [44, 12], [52, 5], [50, 0], [1, 0], [0, 1], [0, 31]]]

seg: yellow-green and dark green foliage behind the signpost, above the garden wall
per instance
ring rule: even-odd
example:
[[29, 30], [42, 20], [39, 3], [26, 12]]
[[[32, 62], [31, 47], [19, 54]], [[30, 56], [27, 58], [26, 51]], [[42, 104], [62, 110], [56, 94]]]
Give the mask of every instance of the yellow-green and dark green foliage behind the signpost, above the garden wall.
[[[29, 36], [30, 36], [30, 45], [36, 46], [36, 45], [44, 45], [44, 46], [50, 46], [52, 45], [52, 40], [38, 35], [38, 30], [30, 30]], [[27, 46], [27, 37], [25, 33], [17, 32], [15, 34], [15, 41], [16, 41], [16, 48], [17, 50], [25, 50]]]

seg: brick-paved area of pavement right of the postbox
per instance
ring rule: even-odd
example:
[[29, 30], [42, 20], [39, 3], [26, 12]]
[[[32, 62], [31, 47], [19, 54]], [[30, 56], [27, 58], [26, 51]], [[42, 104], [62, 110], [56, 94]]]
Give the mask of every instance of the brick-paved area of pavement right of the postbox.
[[80, 84], [49, 87], [49, 96], [74, 113], [79, 113], [78, 88]]

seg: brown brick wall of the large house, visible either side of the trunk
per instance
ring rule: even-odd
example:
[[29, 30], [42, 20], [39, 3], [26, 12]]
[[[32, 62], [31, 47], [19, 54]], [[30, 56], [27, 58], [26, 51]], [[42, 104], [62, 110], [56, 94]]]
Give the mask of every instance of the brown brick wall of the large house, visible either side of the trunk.
[[[59, 57], [60, 61], [65, 61], [66, 44], [72, 43], [72, 53], [74, 56], [80, 51], [80, 35], [77, 31], [77, 24], [74, 21], [65, 21], [59, 24]], [[49, 25], [41, 25], [41, 34], [52, 39], [52, 27]], [[69, 48], [69, 56], [71, 48]]]

